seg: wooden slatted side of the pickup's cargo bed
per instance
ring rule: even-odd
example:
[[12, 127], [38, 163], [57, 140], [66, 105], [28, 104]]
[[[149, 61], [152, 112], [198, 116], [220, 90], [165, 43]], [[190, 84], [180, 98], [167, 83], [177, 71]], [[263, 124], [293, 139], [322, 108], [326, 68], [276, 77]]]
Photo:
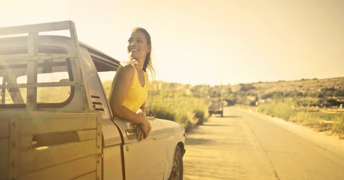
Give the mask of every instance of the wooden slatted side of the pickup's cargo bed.
[[3, 112], [0, 179], [101, 179], [101, 112]]

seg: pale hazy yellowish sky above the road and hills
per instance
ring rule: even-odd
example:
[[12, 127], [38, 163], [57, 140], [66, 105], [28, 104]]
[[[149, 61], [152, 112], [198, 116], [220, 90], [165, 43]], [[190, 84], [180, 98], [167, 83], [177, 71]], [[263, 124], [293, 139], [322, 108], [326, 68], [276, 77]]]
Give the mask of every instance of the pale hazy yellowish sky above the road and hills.
[[0, 27], [64, 20], [119, 61], [130, 29], [147, 29], [165, 82], [344, 77], [344, 0], [1, 0]]

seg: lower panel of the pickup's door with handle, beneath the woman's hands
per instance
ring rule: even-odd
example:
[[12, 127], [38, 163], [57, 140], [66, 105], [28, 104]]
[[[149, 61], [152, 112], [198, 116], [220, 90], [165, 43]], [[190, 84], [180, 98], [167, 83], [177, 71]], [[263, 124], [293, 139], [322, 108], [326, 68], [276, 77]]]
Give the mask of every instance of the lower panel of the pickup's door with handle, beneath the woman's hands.
[[121, 119], [114, 122], [122, 131], [125, 177], [130, 179], [163, 179], [165, 161], [164, 129], [154, 117], [147, 117], [152, 130], [147, 139], [137, 140], [133, 123]]

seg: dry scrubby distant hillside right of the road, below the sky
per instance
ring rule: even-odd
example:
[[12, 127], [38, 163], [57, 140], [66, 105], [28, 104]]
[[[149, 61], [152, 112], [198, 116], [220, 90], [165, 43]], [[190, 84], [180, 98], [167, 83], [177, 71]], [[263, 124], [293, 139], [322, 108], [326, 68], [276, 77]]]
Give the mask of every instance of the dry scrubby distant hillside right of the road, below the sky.
[[299, 106], [339, 107], [344, 103], [344, 77], [237, 84], [231, 89], [233, 95], [229, 100], [252, 106], [255, 101], [264, 103], [281, 98], [293, 98]]

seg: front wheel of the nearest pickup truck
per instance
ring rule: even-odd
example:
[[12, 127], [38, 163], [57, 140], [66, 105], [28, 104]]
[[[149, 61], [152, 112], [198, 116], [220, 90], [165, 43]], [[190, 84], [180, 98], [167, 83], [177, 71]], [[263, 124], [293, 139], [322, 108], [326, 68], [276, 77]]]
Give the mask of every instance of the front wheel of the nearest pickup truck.
[[173, 165], [169, 180], [183, 180], [183, 159], [182, 150], [179, 146], [175, 148]]

